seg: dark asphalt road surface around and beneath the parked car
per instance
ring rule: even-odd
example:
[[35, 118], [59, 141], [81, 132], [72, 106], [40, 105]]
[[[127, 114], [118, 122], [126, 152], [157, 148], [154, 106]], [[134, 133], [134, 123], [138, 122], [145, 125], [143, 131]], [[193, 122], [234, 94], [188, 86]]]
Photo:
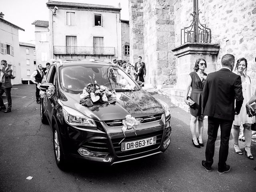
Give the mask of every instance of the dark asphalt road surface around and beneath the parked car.
[[[0, 191], [2, 192], [216, 192], [255, 191], [256, 160], [237, 155], [232, 137], [228, 163], [229, 173], [217, 173], [218, 147], [213, 171], [201, 166], [205, 147], [192, 146], [190, 114], [174, 106], [167, 96], [152, 94], [171, 106], [172, 141], [164, 154], [158, 154], [116, 164], [102, 166], [74, 161], [63, 172], [55, 164], [50, 126], [40, 122], [39, 104], [35, 101], [33, 85], [18, 85], [12, 90], [13, 108], [0, 113]], [[14, 97], [16, 96], [16, 97]], [[4, 98], [6, 102], [6, 98]], [[207, 120], [205, 121], [207, 124]], [[207, 126], [204, 142], [207, 138]], [[240, 142], [244, 147], [244, 143]], [[256, 145], [252, 144], [256, 156]], [[32, 176], [32, 180], [26, 177]]]

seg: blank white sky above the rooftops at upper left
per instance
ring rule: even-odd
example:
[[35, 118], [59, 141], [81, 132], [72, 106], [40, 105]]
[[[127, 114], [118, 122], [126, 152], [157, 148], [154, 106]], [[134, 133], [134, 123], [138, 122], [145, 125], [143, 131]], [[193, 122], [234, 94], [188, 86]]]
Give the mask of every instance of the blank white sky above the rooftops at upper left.
[[[76, 2], [99, 5], [112, 5], [118, 7], [121, 4], [121, 19], [129, 20], [128, 0], [56, 0], [61, 2]], [[34, 44], [35, 20], [48, 21], [48, 0], [0, 0], [0, 12], [4, 14], [4, 19], [23, 28], [19, 30], [19, 41]]]

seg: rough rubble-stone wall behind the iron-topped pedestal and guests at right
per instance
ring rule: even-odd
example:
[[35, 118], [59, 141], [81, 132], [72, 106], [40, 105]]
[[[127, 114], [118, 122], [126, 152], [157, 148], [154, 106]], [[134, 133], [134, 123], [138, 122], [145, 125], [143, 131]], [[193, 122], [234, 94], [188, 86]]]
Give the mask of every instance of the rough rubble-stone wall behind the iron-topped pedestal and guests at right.
[[[222, 67], [224, 54], [233, 54], [236, 60], [244, 57], [248, 61], [247, 74], [256, 87], [256, 1], [199, 0], [198, 7], [202, 12], [200, 22], [212, 31], [212, 43], [220, 44], [216, 70]], [[180, 29], [192, 23], [192, 12], [192, 0], [175, 0], [175, 46], [180, 45]]]

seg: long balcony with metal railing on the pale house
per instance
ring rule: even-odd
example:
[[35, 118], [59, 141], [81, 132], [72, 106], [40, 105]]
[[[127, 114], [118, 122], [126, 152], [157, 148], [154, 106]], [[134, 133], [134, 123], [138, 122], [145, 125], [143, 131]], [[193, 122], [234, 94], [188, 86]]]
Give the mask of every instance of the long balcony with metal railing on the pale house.
[[114, 55], [114, 47], [53, 46], [53, 54]]

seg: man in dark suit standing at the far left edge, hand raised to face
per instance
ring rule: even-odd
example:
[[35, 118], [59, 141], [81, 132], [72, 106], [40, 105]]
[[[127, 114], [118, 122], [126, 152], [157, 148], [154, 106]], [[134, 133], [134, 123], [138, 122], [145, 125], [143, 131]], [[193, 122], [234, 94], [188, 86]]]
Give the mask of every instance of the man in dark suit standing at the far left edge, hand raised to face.
[[[12, 97], [11, 97], [11, 76], [12, 70], [8, 68], [7, 61], [2, 60], [0, 64], [0, 111], [4, 110], [4, 113], [9, 113], [12, 111]], [[2, 95], [6, 94], [8, 108], [4, 105]]]

